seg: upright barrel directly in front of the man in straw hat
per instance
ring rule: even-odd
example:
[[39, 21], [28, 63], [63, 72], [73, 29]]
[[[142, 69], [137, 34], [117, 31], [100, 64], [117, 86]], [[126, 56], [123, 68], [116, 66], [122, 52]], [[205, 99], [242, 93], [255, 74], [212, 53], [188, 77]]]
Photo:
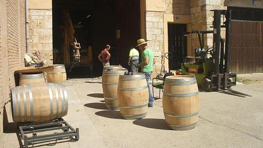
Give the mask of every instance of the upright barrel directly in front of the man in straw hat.
[[146, 117], [149, 92], [143, 73], [121, 74], [117, 91], [120, 114], [124, 119], [142, 119]]

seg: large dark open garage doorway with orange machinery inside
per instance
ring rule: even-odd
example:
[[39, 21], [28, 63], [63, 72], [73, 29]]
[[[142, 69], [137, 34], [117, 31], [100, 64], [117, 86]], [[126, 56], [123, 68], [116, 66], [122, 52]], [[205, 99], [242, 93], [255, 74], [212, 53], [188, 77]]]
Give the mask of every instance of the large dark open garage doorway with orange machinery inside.
[[[110, 64], [128, 68], [130, 46], [140, 38], [140, 0], [53, 0], [52, 9], [53, 63], [64, 64], [69, 76], [100, 76], [97, 56], [106, 44], [111, 45]], [[80, 43], [80, 62], [74, 62], [71, 38]]]

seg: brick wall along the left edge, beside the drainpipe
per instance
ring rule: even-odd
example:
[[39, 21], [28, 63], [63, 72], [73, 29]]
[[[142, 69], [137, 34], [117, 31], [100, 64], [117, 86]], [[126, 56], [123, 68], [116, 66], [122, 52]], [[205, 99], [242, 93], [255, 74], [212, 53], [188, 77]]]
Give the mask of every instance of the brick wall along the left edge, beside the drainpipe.
[[[12, 122], [10, 88], [15, 86], [14, 70], [24, 65], [25, 1], [0, 0], [0, 135]], [[5, 112], [4, 112], [5, 110]]]

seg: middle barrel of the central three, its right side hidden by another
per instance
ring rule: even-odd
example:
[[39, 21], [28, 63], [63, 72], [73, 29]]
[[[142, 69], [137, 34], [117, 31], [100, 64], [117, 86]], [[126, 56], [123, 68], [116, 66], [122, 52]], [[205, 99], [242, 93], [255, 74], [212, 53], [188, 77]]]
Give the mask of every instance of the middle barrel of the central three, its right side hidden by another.
[[102, 82], [103, 95], [105, 99], [105, 105], [107, 109], [118, 110], [118, 100], [117, 100], [117, 89], [119, 82], [119, 75], [128, 72], [127, 69], [113, 69], [113, 71], [104, 72], [104, 79]]

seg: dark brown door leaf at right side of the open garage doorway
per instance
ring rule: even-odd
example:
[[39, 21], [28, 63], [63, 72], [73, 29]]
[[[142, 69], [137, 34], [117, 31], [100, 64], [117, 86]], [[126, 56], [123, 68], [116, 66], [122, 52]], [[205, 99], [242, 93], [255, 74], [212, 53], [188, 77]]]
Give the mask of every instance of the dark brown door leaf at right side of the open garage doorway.
[[[129, 68], [128, 56], [130, 47], [137, 44], [140, 39], [140, 1], [117, 0], [116, 1], [116, 29], [120, 30], [120, 36], [116, 36], [117, 63]], [[115, 22], [111, 22], [115, 23]]]

